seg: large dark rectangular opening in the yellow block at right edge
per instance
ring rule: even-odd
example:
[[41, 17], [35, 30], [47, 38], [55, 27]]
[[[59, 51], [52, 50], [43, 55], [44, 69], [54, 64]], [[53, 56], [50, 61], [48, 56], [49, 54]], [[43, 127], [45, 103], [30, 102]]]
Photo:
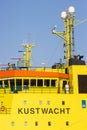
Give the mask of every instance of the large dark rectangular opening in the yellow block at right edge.
[[78, 75], [79, 93], [87, 93], [87, 75]]

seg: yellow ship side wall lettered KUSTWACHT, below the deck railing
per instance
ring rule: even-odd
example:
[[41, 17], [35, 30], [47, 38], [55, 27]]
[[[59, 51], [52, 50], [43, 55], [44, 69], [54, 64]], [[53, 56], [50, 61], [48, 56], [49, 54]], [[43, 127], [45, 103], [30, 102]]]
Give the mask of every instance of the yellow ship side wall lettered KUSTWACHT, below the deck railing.
[[86, 94], [0, 95], [0, 128], [3, 130], [87, 129]]

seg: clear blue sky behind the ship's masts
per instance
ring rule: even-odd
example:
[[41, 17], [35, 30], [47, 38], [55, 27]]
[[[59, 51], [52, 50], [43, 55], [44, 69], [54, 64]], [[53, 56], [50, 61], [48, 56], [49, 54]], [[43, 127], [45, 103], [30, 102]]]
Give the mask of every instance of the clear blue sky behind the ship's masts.
[[[34, 43], [33, 66], [50, 67], [63, 59], [63, 41], [51, 33], [63, 31], [60, 14], [74, 6], [78, 20], [87, 18], [87, 0], [0, 0], [0, 64], [22, 57], [22, 43]], [[75, 28], [75, 53], [87, 59], [87, 22]]]

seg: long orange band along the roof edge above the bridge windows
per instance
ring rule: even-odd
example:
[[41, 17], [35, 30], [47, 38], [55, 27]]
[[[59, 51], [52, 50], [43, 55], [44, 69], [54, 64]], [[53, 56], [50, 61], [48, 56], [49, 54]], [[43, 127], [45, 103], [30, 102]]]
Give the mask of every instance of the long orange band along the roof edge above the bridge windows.
[[59, 72], [43, 72], [37, 70], [0, 70], [0, 78], [9, 77], [57, 77], [57, 78], [69, 78], [69, 74]]

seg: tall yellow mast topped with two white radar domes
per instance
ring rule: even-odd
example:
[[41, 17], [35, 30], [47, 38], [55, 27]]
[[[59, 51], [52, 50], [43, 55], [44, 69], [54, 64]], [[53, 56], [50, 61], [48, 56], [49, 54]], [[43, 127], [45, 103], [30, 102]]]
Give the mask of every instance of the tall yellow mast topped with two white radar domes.
[[69, 66], [69, 59], [73, 56], [74, 46], [74, 20], [75, 20], [75, 8], [70, 6], [67, 11], [61, 13], [61, 18], [64, 22], [64, 31], [57, 32], [53, 28], [52, 33], [56, 34], [64, 40], [64, 59], [66, 59], [66, 66]]

